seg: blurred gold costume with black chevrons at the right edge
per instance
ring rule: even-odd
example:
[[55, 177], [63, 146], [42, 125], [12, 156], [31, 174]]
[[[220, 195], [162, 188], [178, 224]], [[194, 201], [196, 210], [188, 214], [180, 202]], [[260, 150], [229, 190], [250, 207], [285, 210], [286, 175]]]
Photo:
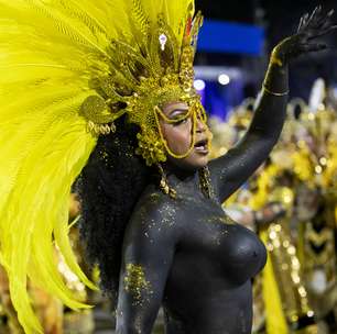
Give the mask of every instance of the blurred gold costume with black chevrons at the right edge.
[[[337, 118], [324, 108], [303, 112], [304, 134], [293, 155], [294, 171], [298, 179], [297, 204], [298, 254], [305, 274], [309, 299], [317, 318], [324, 320], [336, 312], [336, 176], [337, 176]], [[336, 315], [328, 321], [336, 331]]]

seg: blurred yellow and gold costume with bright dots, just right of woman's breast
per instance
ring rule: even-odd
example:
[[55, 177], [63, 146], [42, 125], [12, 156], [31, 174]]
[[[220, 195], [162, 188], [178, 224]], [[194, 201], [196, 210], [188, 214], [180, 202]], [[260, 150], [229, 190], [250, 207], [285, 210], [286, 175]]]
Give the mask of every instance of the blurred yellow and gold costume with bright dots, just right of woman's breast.
[[[258, 189], [250, 201], [251, 208], [257, 211], [268, 202], [275, 202], [286, 212], [283, 218], [260, 229], [259, 233], [269, 252], [268, 264], [262, 271], [267, 333], [316, 334], [314, 311], [307, 298], [303, 271], [291, 236], [294, 191], [278, 182], [276, 178], [282, 172], [275, 165], [268, 166], [259, 176]], [[303, 323], [306, 324], [304, 327]]]

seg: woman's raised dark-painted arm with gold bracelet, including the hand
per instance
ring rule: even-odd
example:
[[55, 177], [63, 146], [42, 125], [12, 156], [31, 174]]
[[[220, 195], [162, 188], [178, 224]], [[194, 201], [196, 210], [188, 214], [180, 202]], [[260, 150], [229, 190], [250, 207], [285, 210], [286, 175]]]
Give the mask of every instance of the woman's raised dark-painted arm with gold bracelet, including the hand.
[[312, 15], [305, 14], [301, 19], [295, 35], [273, 49], [249, 130], [226, 155], [209, 163], [213, 185], [220, 202], [244, 183], [278, 142], [286, 113], [289, 63], [303, 54], [327, 48], [316, 40], [336, 29], [331, 24], [333, 13], [324, 13], [322, 7], [317, 7]]

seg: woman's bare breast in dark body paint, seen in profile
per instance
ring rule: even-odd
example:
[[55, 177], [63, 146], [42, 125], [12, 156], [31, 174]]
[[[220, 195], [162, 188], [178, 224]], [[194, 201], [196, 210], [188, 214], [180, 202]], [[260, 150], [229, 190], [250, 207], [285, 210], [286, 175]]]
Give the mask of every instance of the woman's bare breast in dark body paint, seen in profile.
[[267, 250], [256, 233], [219, 214], [200, 218], [197, 225], [191, 229], [189, 245], [194, 244], [192, 247], [200, 255], [200, 263], [206, 259], [209, 268], [216, 268], [213, 275], [238, 286], [264, 267]]

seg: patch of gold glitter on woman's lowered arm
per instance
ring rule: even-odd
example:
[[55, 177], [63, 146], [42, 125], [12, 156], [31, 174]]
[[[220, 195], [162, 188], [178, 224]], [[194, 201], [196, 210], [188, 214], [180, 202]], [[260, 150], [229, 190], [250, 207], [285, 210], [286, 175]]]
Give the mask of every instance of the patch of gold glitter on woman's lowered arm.
[[134, 264], [127, 265], [124, 289], [132, 294], [137, 304], [142, 302], [143, 292], [151, 292], [150, 282], [145, 279], [145, 272], [142, 266]]

